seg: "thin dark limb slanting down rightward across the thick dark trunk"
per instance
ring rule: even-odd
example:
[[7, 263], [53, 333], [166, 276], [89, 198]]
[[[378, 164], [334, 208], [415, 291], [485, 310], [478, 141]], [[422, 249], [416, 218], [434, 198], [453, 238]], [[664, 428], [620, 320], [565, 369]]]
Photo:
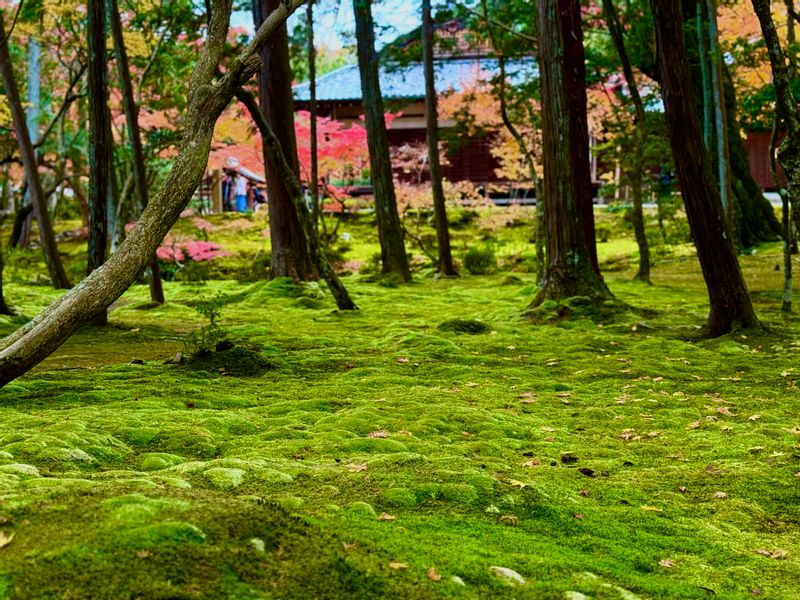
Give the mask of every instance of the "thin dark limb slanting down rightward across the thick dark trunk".
[[303, 192], [300, 189], [300, 180], [286, 160], [278, 137], [259, 111], [258, 104], [253, 95], [241, 88], [237, 90], [236, 95], [253, 116], [253, 121], [261, 133], [264, 148], [269, 150], [275, 166], [278, 169], [278, 174], [289, 189], [290, 198], [292, 199], [300, 224], [305, 232], [305, 239], [308, 243], [308, 255], [311, 257], [314, 268], [328, 284], [336, 300], [336, 306], [338, 306], [340, 310], [358, 310], [355, 302], [350, 298], [347, 288], [344, 287], [341, 280], [336, 276], [336, 272], [333, 270], [325, 253], [322, 251], [319, 234], [314, 227], [313, 215], [308, 210], [308, 206], [303, 199]]

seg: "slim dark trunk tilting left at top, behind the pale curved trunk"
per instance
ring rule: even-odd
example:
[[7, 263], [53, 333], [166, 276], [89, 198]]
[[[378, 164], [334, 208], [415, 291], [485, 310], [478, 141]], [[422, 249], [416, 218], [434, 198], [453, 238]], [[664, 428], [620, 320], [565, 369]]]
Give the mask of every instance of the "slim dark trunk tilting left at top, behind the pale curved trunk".
[[[128, 137], [131, 140], [133, 176], [139, 200], [144, 208], [150, 198], [147, 189], [147, 171], [144, 164], [142, 135], [139, 131], [139, 107], [136, 105], [133, 95], [133, 84], [128, 67], [128, 52], [125, 48], [125, 38], [122, 35], [122, 21], [117, 0], [109, 0], [108, 16], [111, 20], [111, 35], [114, 38], [114, 51], [117, 55], [117, 71], [119, 73], [120, 87], [122, 88], [122, 105], [125, 109], [125, 120], [128, 124]], [[120, 197], [119, 201], [121, 205], [124, 201], [124, 195]], [[161, 270], [155, 255], [150, 261], [150, 299], [156, 304], [164, 304], [164, 286], [161, 284]]]

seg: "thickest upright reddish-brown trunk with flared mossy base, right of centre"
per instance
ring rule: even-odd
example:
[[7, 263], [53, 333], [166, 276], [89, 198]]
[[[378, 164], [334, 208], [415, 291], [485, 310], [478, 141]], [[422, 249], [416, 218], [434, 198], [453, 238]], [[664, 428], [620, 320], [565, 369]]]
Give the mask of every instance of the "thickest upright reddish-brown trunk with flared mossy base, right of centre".
[[539, 2], [542, 159], [547, 270], [544, 300], [610, 296], [597, 264], [581, 9], [578, 0]]

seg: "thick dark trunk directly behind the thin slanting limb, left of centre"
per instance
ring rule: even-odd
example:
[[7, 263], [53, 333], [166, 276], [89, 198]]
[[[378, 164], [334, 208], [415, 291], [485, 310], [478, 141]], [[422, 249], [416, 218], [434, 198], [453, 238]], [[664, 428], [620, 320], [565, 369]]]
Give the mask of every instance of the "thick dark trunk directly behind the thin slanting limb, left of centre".
[[[282, 0], [253, 0], [253, 16], [259, 27], [266, 16]], [[259, 95], [261, 112], [281, 143], [284, 156], [299, 173], [297, 143], [294, 136], [294, 101], [292, 98], [292, 70], [289, 66], [289, 36], [282, 25], [261, 52]], [[291, 194], [280, 176], [272, 153], [264, 147], [264, 164], [269, 200], [269, 231], [272, 243], [271, 277], [291, 277], [297, 281], [316, 278], [311, 258], [297, 217]]]

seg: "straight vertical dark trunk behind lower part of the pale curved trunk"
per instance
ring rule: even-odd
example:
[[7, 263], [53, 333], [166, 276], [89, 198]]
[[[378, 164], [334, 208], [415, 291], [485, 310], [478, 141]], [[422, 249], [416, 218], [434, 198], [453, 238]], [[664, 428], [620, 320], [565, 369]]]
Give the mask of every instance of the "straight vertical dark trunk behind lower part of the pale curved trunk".
[[[87, 5], [89, 90], [89, 264], [88, 272], [106, 262], [108, 251], [108, 197], [111, 193], [113, 142], [108, 112], [108, 74], [106, 71], [105, 0], [89, 0]], [[102, 310], [92, 322], [103, 325], [108, 315]]]

